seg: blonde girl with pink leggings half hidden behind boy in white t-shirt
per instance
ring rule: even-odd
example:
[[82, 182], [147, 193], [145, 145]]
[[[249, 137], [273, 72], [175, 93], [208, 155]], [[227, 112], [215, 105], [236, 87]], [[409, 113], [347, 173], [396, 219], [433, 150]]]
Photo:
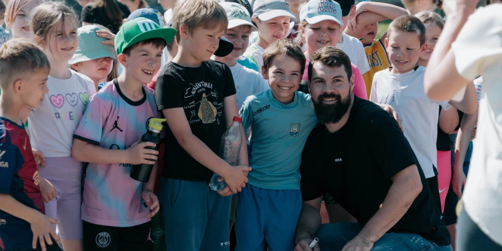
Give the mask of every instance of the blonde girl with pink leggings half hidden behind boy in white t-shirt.
[[[415, 16], [425, 25], [425, 43], [427, 44], [427, 51], [424, 55], [420, 56], [417, 65], [426, 67], [434, 51], [434, 46], [439, 39], [439, 35], [441, 35], [443, 31], [444, 20], [439, 14], [429, 11], [418, 13]], [[439, 130], [447, 134], [453, 133], [457, 127], [458, 120], [457, 109], [454, 107], [448, 110], [441, 108], [441, 112], [439, 113], [438, 134], [441, 133]], [[449, 148], [448, 146], [448, 149]], [[437, 151], [437, 169], [439, 198], [441, 200], [441, 212], [443, 212], [446, 194], [448, 193], [451, 181], [451, 152], [449, 150]]]

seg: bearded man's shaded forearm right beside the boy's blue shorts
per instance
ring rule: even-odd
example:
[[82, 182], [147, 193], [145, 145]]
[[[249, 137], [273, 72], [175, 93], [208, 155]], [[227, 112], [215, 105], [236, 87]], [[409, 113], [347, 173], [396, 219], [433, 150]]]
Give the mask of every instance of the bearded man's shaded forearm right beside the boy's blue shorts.
[[[303, 202], [295, 231], [295, 251], [311, 250], [308, 246], [314, 239], [314, 235], [319, 230], [319, 227], [321, 227], [321, 202], [322, 196]], [[314, 250], [319, 249], [314, 248]]]

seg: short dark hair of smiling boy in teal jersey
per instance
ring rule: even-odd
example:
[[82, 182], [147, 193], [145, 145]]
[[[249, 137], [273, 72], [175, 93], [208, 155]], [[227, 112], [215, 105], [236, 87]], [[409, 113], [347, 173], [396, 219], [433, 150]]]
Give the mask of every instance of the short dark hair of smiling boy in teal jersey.
[[277, 56], [290, 56], [296, 59], [300, 63], [300, 76], [303, 76], [306, 60], [300, 45], [289, 39], [280, 39], [270, 44], [263, 53], [263, 67], [266, 71], [272, 66]]

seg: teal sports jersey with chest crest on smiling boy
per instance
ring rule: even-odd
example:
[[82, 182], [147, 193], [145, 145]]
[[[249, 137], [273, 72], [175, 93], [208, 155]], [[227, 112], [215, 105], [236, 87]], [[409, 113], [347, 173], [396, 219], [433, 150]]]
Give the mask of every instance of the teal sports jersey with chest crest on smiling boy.
[[252, 131], [249, 184], [300, 190], [303, 147], [317, 124], [310, 94], [297, 91], [292, 103], [283, 104], [269, 89], [247, 97], [239, 115], [244, 131]]

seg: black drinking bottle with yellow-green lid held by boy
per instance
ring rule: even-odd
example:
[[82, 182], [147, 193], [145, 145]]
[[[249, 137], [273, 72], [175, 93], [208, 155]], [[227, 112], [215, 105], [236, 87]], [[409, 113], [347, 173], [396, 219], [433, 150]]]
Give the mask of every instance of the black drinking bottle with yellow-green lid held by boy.
[[[164, 121], [166, 121], [164, 118], [150, 118], [148, 121], [148, 130], [147, 133], [141, 137], [141, 142], [153, 142], [155, 143], [155, 147], [147, 147], [147, 149], [157, 150], [159, 148], [159, 135], [163, 128], [162, 122]], [[154, 165], [149, 164], [134, 165], [129, 176], [137, 181], [148, 182], [150, 174], [152, 174], [153, 166]]]

